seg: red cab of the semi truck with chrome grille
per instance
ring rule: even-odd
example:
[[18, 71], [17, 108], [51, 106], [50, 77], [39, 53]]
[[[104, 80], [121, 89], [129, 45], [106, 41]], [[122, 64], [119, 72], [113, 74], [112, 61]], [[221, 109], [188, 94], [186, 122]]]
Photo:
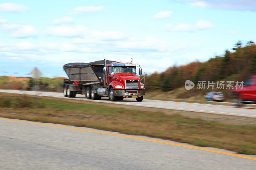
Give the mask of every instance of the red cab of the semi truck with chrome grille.
[[[141, 68], [140, 68], [141, 75]], [[136, 73], [136, 65], [132, 63], [113, 62], [106, 66], [106, 79], [111, 101], [123, 98], [136, 98], [142, 101], [145, 88]]]

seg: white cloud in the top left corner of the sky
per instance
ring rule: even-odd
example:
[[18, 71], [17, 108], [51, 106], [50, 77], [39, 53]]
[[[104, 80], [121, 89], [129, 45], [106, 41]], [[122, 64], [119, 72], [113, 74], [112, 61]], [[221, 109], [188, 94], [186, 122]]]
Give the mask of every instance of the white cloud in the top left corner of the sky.
[[28, 10], [27, 6], [15, 3], [0, 4], [0, 12], [18, 13]]

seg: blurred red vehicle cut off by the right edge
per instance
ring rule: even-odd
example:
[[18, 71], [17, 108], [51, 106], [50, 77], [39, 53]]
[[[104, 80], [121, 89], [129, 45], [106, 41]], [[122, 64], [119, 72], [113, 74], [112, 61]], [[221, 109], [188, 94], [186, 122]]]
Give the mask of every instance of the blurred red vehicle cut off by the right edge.
[[234, 88], [231, 94], [236, 106], [241, 106], [243, 103], [256, 103], [256, 76], [248, 77], [243, 87]]

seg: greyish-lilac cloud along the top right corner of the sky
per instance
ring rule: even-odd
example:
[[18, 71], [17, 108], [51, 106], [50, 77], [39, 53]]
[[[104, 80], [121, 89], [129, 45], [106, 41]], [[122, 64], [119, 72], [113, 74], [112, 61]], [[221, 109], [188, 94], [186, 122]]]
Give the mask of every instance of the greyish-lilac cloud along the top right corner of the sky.
[[252, 10], [256, 11], [255, 0], [183, 0], [191, 6], [223, 10]]

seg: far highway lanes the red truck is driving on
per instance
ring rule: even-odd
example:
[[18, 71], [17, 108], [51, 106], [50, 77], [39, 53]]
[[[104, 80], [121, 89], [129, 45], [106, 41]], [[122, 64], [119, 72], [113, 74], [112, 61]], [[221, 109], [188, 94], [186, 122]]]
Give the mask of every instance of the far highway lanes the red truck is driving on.
[[[33, 92], [33, 91], [2, 90], [2, 89], [0, 89], [0, 92], [36, 95], [36, 92]], [[57, 92], [39, 92], [39, 95], [40, 96], [48, 96], [48, 97], [64, 98], [62, 93], [57, 93]], [[79, 95], [79, 94], [76, 95], [75, 98], [69, 98], [69, 99], [88, 100], [85, 98], [84, 95]], [[256, 108], [253, 108], [253, 107], [236, 108], [234, 106], [175, 102], [175, 101], [161, 101], [161, 100], [147, 100], [147, 99], [143, 99], [142, 102], [137, 102], [136, 99], [132, 99], [132, 98], [124, 98], [124, 100], [111, 102], [107, 97], [103, 97], [103, 98], [101, 98], [101, 100], [90, 100], [90, 101], [104, 102], [104, 103], [116, 103], [116, 104], [122, 104], [122, 105], [132, 105], [132, 106], [184, 110], [184, 111], [193, 111], [193, 112], [203, 112], [203, 113], [214, 113], [214, 114], [222, 114], [222, 115], [256, 117]]]

